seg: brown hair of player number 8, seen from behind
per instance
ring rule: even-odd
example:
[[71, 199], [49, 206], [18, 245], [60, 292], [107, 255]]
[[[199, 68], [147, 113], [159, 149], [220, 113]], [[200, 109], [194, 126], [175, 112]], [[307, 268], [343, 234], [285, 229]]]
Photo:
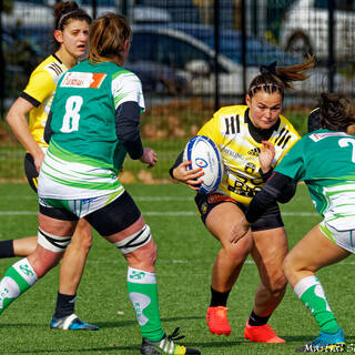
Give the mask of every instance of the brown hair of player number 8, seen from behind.
[[97, 63], [103, 58], [121, 59], [124, 42], [132, 39], [129, 22], [121, 14], [108, 12], [98, 18], [90, 28], [88, 60]]

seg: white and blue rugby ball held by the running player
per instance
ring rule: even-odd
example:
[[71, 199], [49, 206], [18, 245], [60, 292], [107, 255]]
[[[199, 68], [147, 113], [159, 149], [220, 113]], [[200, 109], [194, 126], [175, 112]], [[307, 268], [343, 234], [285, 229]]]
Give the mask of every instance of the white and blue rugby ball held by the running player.
[[205, 135], [191, 139], [184, 149], [183, 160], [191, 160], [189, 170], [202, 168], [204, 175], [201, 176], [200, 193], [211, 193], [219, 187], [223, 175], [222, 155], [211, 139]]

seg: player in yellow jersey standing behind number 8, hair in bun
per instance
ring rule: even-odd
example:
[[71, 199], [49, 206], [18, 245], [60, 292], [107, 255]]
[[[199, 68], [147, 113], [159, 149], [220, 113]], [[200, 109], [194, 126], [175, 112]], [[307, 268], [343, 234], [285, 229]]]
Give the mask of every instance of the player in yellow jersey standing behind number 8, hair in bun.
[[[27, 150], [24, 170], [31, 187], [37, 192], [37, 179], [44, 158], [47, 143], [44, 126], [55, 93], [57, 83], [68, 69], [85, 53], [91, 18], [75, 2], [59, 2], [54, 7], [54, 53], [32, 72], [29, 83], [11, 105], [7, 115], [13, 133]], [[29, 118], [29, 121], [28, 121]], [[55, 240], [47, 235], [48, 243]], [[0, 258], [27, 256], [37, 247], [37, 236], [0, 242]], [[75, 234], [67, 248], [60, 270], [60, 285], [55, 313], [50, 327], [58, 329], [98, 329], [74, 314], [79, 286], [91, 245], [91, 227], [78, 223]]]

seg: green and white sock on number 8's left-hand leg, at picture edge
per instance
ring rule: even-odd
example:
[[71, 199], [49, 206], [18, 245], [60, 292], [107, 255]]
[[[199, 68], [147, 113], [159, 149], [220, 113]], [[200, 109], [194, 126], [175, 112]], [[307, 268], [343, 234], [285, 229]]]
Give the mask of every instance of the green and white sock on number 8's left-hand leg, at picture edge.
[[37, 280], [38, 277], [27, 257], [10, 266], [0, 281], [0, 314], [29, 290]]

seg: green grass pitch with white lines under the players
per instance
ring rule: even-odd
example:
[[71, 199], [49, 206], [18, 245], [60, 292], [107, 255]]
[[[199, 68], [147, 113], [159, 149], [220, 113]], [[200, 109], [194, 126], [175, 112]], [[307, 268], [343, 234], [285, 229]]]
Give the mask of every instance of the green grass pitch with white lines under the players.
[[[229, 320], [232, 334], [213, 336], [205, 323], [210, 302], [210, 273], [219, 243], [206, 232], [195, 213], [193, 192], [183, 185], [126, 186], [150, 224], [159, 247], [156, 275], [160, 308], [166, 333], [176, 326], [186, 335], [184, 344], [199, 347], [204, 355], [293, 354], [295, 347], [313, 339], [317, 326], [311, 314], [288, 287], [271, 324], [286, 344], [247, 343], [245, 321], [253, 305], [258, 275], [247, 260], [231, 293]], [[0, 184], [0, 240], [37, 233], [37, 200], [26, 184]], [[283, 206], [290, 245], [320, 221], [305, 185]], [[322, 252], [322, 251], [320, 251]], [[0, 260], [1, 274], [16, 260]], [[354, 258], [318, 273], [332, 310], [347, 335], [348, 351], [355, 343], [353, 300]], [[100, 326], [99, 332], [49, 329], [58, 291], [58, 267], [14, 302], [0, 317], [0, 354], [93, 355], [139, 354], [141, 337], [126, 293], [126, 263], [99, 235], [88, 257], [75, 313]]]

